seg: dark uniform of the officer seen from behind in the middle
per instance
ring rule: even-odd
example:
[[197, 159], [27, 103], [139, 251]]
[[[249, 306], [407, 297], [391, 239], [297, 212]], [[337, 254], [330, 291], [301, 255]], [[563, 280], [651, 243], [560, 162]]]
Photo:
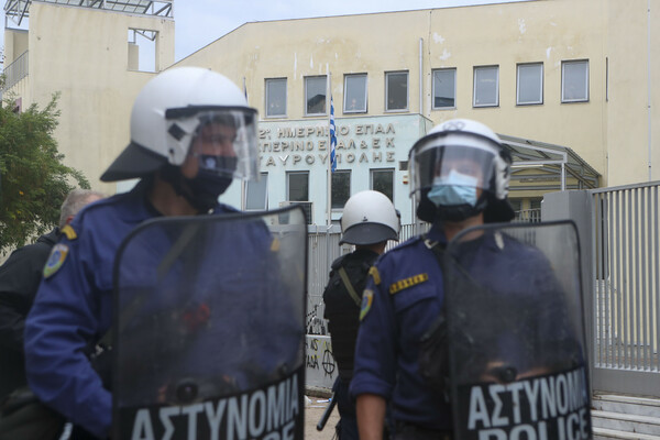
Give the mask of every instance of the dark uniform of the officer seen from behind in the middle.
[[[339, 369], [334, 398], [340, 415], [340, 439], [358, 439], [358, 420], [355, 404], [349, 396], [349, 384], [353, 378], [353, 358], [355, 340], [360, 323], [360, 304], [366, 284], [369, 270], [378, 254], [369, 249], [359, 249], [337, 258], [331, 266], [330, 279], [323, 292], [326, 309], [323, 318], [328, 319], [328, 329], [332, 341], [332, 355]], [[340, 275], [345, 277], [353, 288], [350, 293]], [[356, 298], [353, 298], [353, 295]]]

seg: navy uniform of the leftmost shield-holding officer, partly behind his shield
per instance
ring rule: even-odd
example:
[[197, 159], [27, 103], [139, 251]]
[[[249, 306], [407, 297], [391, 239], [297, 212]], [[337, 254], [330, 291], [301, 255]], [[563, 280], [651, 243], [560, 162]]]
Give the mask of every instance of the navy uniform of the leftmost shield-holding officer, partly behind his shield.
[[[235, 211], [224, 205], [213, 208], [216, 215], [228, 212]], [[139, 224], [158, 216], [146, 199], [144, 183], [129, 194], [101, 200], [81, 211], [72, 222], [72, 232], [55, 245], [26, 321], [25, 352], [31, 387], [44, 403], [99, 438], [110, 432], [112, 396], [90, 365], [87, 352], [111, 326], [112, 268], [120, 243]], [[258, 238], [267, 238], [265, 227], [252, 234], [232, 232], [233, 241], [226, 241], [218, 249], [218, 255], [232, 250], [233, 254], [227, 260], [243, 264], [245, 253], [254, 250], [250, 245], [260, 241]], [[230, 234], [228, 231], [227, 235]], [[261, 241], [262, 248], [271, 246], [270, 240]], [[154, 243], [156, 248], [167, 245], [170, 242]], [[144, 252], [148, 254], [148, 250]], [[210, 260], [208, 264], [220, 271], [222, 261]], [[250, 298], [250, 292], [241, 292], [241, 297]], [[216, 308], [210, 314], [218, 311]], [[245, 317], [237, 317], [239, 320], [246, 321], [245, 326], [254, 324]], [[204, 354], [208, 354], [208, 345]], [[197, 356], [204, 359], [204, 354]], [[284, 355], [295, 358], [297, 353]], [[191, 363], [195, 364], [195, 360]], [[208, 363], [198, 363], [190, 373], [207, 367]]]

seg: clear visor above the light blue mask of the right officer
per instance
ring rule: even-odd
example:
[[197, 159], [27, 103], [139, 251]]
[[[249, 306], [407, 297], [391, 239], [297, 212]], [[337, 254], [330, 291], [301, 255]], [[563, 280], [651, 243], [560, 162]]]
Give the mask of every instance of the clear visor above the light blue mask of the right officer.
[[495, 193], [496, 153], [490, 147], [461, 144], [417, 145], [411, 151], [410, 194], [433, 185], [470, 185]]

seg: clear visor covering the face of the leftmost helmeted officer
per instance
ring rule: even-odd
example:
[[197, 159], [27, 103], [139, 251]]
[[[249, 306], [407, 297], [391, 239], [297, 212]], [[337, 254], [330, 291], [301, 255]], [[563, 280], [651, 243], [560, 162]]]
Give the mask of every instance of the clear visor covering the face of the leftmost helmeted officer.
[[188, 156], [199, 169], [240, 179], [258, 177], [254, 110], [205, 110], [193, 119], [196, 129]]

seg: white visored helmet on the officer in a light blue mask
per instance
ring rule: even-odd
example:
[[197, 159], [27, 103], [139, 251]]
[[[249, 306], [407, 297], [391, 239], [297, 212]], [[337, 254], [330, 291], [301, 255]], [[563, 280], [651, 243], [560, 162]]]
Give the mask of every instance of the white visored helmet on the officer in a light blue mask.
[[[417, 216], [421, 220], [462, 220], [482, 211], [485, 221], [513, 219], [506, 200], [512, 156], [483, 123], [453, 119], [436, 125], [413, 145], [409, 164], [410, 194], [419, 198]], [[452, 187], [453, 195], [472, 194], [435, 197], [442, 186]]]

